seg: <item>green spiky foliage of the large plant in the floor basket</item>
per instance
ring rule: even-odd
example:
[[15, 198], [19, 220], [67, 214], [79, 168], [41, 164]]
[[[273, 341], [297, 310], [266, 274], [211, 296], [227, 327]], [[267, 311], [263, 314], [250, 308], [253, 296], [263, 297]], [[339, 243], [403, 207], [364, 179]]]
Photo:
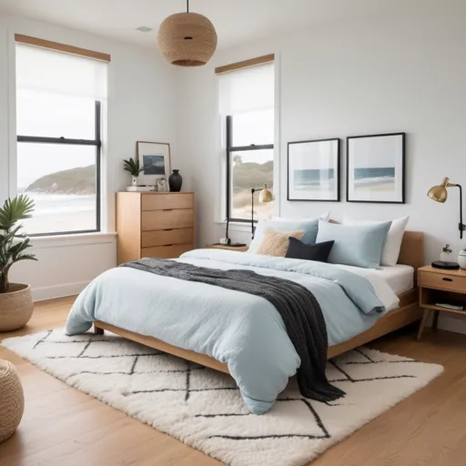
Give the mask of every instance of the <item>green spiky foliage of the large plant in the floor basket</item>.
[[31, 248], [30, 239], [20, 233], [23, 225], [20, 220], [31, 218], [34, 211], [34, 201], [25, 195], [6, 199], [0, 208], [0, 293], [7, 293], [10, 289], [8, 272], [13, 264], [20, 260], [37, 260], [34, 255], [26, 254]]

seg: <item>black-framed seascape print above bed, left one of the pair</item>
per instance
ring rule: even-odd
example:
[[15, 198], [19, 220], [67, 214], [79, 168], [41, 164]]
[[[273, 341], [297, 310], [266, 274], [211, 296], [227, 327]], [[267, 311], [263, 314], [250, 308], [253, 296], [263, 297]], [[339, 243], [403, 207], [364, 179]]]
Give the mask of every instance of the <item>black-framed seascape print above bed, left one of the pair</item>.
[[288, 144], [288, 200], [339, 201], [339, 138]]

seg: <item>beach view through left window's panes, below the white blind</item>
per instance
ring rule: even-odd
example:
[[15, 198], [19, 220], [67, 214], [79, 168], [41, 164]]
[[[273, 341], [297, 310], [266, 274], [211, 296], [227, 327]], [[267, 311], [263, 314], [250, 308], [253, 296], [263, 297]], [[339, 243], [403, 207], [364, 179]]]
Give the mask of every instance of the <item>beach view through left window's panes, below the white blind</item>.
[[[95, 101], [21, 90], [17, 134], [95, 139]], [[18, 142], [17, 188], [35, 202], [29, 235], [96, 230], [96, 147]]]

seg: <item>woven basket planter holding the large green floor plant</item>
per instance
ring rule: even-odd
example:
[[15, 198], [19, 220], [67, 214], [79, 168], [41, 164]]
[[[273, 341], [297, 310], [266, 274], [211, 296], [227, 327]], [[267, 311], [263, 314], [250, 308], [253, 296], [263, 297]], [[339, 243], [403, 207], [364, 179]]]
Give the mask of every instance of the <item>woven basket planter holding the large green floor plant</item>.
[[11, 283], [10, 291], [0, 293], [0, 331], [21, 329], [34, 310], [31, 287]]

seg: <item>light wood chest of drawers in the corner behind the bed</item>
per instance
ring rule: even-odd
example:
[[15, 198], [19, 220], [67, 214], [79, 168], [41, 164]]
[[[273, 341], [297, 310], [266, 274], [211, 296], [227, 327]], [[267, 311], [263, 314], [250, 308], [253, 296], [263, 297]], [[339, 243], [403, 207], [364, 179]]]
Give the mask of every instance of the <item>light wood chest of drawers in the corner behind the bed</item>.
[[194, 249], [194, 193], [117, 193], [118, 263]]

